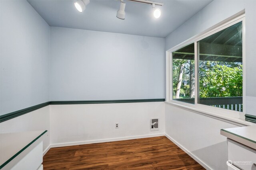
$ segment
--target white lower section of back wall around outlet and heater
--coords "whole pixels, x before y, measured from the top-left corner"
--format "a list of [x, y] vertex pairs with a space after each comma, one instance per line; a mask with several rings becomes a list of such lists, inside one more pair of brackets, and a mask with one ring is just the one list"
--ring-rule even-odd
[[[55, 146], [163, 135], [165, 128], [164, 102], [50, 105], [50, 112], [51, 144]], [[150, 118], [160, 119], [159, 131], [150, 131]]]

